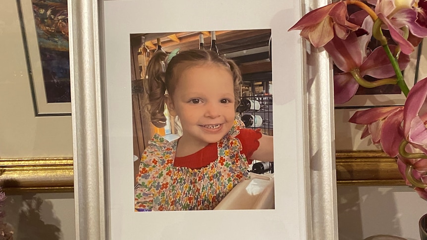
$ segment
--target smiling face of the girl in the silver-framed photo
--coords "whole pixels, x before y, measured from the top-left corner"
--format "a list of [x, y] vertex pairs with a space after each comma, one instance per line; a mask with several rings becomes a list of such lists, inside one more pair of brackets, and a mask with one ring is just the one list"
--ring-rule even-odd
[[186, 68], [171, 97], [166, 102], [170, 114], [181, 121], [182, 145], [201, 149], [221, 140], [233, 126], [233, 78], [224, 66], [208, 63]]

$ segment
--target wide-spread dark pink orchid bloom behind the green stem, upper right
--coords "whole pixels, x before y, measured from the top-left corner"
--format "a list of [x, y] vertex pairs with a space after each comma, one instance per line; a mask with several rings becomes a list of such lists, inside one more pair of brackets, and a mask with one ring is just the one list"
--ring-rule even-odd
[[[363, 11], [360, 12], [363, 13]], [[358, 13], [353, 15], [358, 15]], [[362, 29], [369, 30], [367, 35], [357, 37], [355, 32], [351, 32], [346, 39], [334, 37], [323, 46], [335, 65], [343, 71], [343, 73], [334, 75], [334, 100], [337, 104], [350, 100], [359, 88], [359, 84], [350, 73], [352, 70], [358, 68], [362, 77], [369, 75], [377, 79], [390, 78], [395, 75], [382, 47], [375, 48], [372, 53], [368, 54], [370, 51], [368, 43], [371, 41], [373, 25], [372, 18], [367, 16], [362, 23]], [[390, 46], [392, 51], [395, 48], [395, 46]], [[409, 61], [408, 55], [401, 54], [398, 60], [400, 69], [405, 69]]]

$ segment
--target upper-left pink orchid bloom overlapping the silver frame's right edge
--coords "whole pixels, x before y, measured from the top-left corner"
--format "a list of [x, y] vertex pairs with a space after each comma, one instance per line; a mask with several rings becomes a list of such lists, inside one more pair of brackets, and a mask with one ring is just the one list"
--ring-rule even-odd
[[[291, 30], [301, 30], [300, 35], [310, 41], [315, 48], [323, 47], [334, 35], [345, 39], [359, 26], [347, 21], [348, 12], [345, 1], [330, 3], [304, 15]], [[335, 30], [335, 34], [334, 34]]]

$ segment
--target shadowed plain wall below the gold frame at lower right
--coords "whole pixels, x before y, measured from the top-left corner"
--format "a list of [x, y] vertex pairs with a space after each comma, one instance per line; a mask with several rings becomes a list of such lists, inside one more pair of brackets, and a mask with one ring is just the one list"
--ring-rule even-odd
[[419, 240], [418, 221], [427, 201], [407, 186], [338, 186], [339, 240], [393, 235]]

